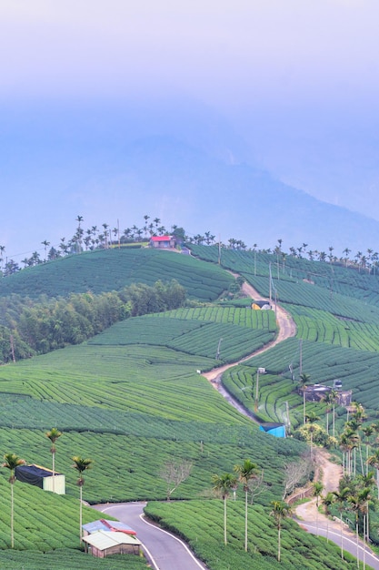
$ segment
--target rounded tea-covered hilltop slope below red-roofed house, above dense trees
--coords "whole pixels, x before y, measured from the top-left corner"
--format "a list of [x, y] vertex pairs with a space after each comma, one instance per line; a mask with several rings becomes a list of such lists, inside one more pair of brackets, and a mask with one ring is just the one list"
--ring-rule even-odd
[[216, 266], [155, 249], [98, 249], [67, 256], [27, 268], [0, 280], [0, 296], [11, 293], [35, 298], [67, 296], [70, 293], [102, 293], [120, 290], [132, 283], [154, 285], [175, 279], [188, 297], [215, 300], [233, 282]]

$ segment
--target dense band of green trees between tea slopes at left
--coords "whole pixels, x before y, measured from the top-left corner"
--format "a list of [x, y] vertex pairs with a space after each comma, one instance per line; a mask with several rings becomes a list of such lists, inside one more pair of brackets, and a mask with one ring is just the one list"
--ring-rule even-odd
[[13, 294], [0, 299], [0, 363], [79, 344], [117, 321], [185, 304], [185, 288], [176, 280], [136, 283], [94, 295], [72, 293], [67, 299], [37, 300]]

